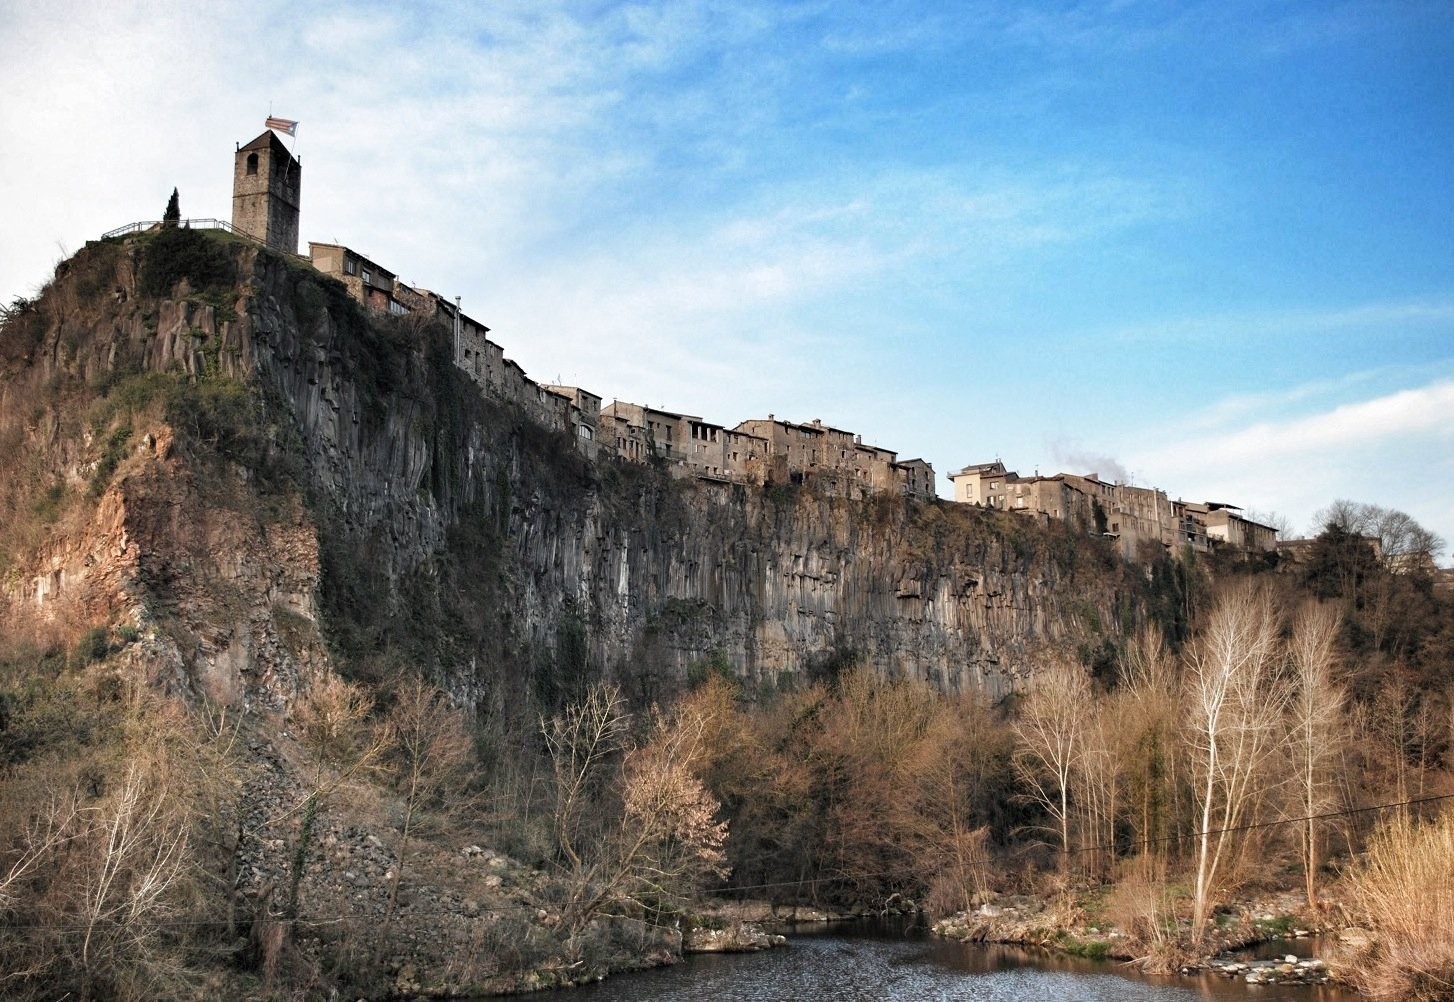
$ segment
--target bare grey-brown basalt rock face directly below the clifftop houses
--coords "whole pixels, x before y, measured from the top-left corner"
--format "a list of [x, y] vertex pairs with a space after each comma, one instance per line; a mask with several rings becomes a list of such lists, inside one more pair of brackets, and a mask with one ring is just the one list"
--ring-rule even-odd
[[145, 239], [93, 244], [6, 324], [12, 621], [135, 625], [153, 672], [227, 700], [343, 656], [505, 707], [601, 673], [650, 700], [704, 660], [999, 695], [1035, 646], [1140, 615], [1140, 576], [1063, 526], [589, 464], [484, 400], [446, 330], [206, 240], [199, 289], [147, 295]]

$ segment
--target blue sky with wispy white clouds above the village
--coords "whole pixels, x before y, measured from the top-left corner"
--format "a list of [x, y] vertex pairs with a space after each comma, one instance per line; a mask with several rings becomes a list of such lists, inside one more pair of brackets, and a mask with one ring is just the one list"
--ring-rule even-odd
[[1454, 547], [1454, 4], [0, 0], [0, 298], [231, 214], [539, 381]]

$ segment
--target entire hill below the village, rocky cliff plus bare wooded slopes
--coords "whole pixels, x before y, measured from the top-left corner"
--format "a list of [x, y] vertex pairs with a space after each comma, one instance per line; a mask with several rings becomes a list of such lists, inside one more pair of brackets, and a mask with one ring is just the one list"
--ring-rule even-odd
[[1134, 567], [587, 461], [448, 330], [161, 230], [4, 313], [0, 582], [7, 998], [569, 983], [736, 897], [1034, 894], [1172, 966], [1288, 889], [1448, 980], [1383, 889], [1448, 887], [1450, 598], [1338, 524]]

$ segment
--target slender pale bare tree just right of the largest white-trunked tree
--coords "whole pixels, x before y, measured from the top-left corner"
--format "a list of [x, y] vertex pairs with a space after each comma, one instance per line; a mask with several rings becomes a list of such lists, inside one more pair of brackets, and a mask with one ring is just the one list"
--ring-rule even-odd
[[1293, 681], [1288, 730], [1297, 769], [1297, 804], [1306, 819], [1298, 832], [1309, 907], [1317, 906], [1317, 868], [1322, 862], [1322, 823], [1317, 814], [1336, 803], [1335, 772], [1346, 733], [1346, 694], [1333, 678], [1336, 640], [1338, 614], [1330, 606], [1309, 604], [1298, 614], [1287, 644]]

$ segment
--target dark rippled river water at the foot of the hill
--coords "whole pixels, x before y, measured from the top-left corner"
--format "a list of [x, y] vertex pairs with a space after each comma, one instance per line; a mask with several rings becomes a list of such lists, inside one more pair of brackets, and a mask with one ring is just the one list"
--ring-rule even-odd
[[1013, 947], [957, 944], [884, 929], [794, 935], [792, 945], [759, 954], [698, 955], [660, 970], [618, 974], [570, 992], [531, 995], [532, 1002], [1355, 1002], [1329, 987], [1252, 986], [1216, 974], [1144, 977], [1096, 963]]

